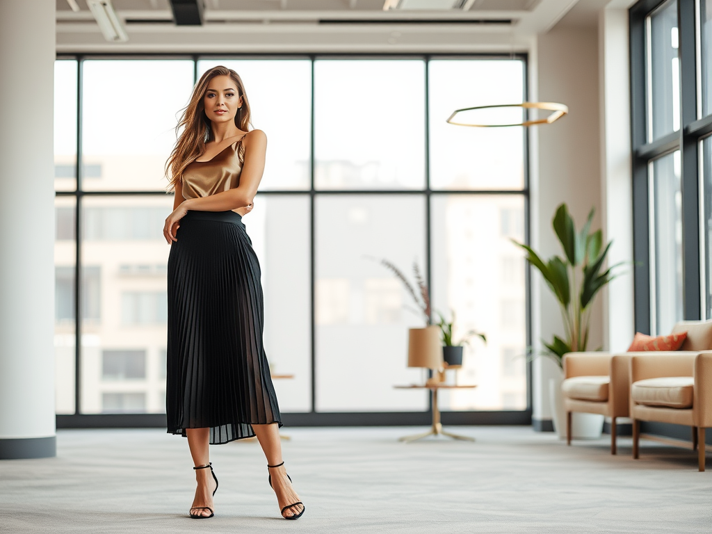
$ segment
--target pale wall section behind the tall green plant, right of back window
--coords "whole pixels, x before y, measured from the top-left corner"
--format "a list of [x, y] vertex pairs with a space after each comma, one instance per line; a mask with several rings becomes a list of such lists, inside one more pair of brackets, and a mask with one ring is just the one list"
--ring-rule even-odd
[[[536, 98], [560, 102], [569, 115], [553, 125], [533, 131], [538, 158], [532, 162], [532, 242], [543, 256], [562, 254], [551, 228], [559, 204], [565, 202], [577, 226], [592, 207], [596, 209], [594, 228], [601, 224], [600, 120], [598, 35], [595, 28], [557, 26], [538, 37], [535, 49]], [[533, 147], [533, 151], [535, 148]], [[540, 276], [533, 278], [533, 343], [563, 335], [561, 315], [555, 298]], [[603, 343], [603, 315], [600, 298], [592, 309], [589, 348]], [[548, 358], [533, 365], [533, 418], [550, 419], [548, 378], [557, 375]]]

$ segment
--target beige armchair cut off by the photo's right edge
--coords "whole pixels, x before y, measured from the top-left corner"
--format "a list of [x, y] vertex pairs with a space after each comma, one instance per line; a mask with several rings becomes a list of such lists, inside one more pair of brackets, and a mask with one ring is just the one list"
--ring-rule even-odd
[[641, 421], [684, 424], [693, 427], [693, 449], [704, 471], [705, 429], [712, 426], [712, 351], [636, 353], [630, 379], [633, 458], [639, 456]]

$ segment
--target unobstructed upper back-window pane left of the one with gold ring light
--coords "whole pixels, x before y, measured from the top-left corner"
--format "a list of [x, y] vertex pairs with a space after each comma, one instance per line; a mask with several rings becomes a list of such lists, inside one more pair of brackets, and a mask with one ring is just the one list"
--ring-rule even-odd
[[425, 63], [314, 63], [316, 189], [424, 189]]

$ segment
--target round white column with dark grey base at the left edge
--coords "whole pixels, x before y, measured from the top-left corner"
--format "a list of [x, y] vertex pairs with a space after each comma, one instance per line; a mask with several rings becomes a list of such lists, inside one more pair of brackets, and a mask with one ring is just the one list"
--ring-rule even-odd
[[0, 1], [0, 459], [54, 456], [55, 1]]

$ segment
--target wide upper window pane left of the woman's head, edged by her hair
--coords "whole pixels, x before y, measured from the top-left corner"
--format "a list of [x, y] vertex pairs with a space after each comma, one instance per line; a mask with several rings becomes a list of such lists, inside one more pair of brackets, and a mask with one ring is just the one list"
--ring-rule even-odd
[[82, 64], [82, 188], [160, 191], [193, 62], [86, 60]]

